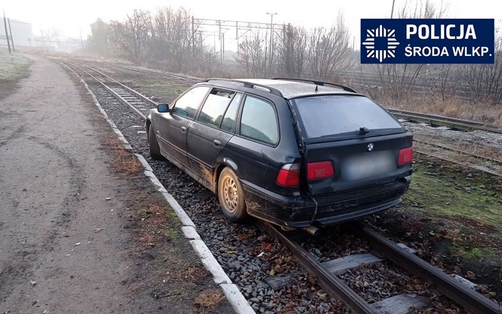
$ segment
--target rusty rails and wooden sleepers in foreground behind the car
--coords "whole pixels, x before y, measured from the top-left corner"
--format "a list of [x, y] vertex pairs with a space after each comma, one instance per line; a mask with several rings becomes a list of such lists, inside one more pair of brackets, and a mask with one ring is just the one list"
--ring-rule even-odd
[[375, 232], [361, 222], [352, 223], [350, 228], [357, 235], [366, 238], [373, 253], [351, 254], [334, 260], [319, 262], [314, 255], [307, 252], [295, 235], [281, 231], [275, 226], [264, 223], [266, 229], [279, 239], [317, 280], [319, 286], [332, 297], [338, 298], [355, 313], [408, 313], [410, 309], [427, 307], [431, 300], [423, 295], [403, 293], [387, 299], [368, 304], [359, 294], [352, 290], [339, 275], [350, 269], [355, 269], [371, 263], [390, 260], [411, 274], [429, 280], [434, 288], [445, 296], [473, 313], [501, 313], [496, 303], [469, 287], [469, 282], [460, 276], [449, 276], [438, 268], [417, 257], [414, 251], [406, 246], [400, 246], [381, 234]]

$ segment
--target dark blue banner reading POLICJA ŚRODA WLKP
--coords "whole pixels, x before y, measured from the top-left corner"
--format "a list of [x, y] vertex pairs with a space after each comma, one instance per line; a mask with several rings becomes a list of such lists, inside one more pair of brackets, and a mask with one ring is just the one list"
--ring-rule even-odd
[[361, 19], [361, 63], [493, 63], [493, 19]]

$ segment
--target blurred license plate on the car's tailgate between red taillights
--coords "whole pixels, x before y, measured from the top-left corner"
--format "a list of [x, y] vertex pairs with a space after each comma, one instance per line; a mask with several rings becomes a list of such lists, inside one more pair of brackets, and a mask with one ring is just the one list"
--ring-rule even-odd
[[396, 171], [396, 158], [392, 151], [368, 152], [350, 156], [342, 161], [344, 180], [357, 180]]

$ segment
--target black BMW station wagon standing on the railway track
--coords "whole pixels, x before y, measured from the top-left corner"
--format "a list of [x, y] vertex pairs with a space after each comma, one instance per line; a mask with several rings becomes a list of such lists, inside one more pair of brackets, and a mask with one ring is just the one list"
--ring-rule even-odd
[[151, 157], [215, 192], [234, 222], [314, 233], [395, 206], [410, 185], [413, 135], [339, 84], [208, 79], [150, 110], [146, 131]]

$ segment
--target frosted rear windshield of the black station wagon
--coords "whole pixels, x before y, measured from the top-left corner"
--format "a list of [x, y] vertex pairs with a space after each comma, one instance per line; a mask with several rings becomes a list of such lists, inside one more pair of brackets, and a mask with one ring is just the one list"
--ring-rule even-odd
[[373, 100], [364, 96], [326, 95], [291, 100], [308, 138], [319, 138], [359, 128], [402, 129], [401, 124]]

